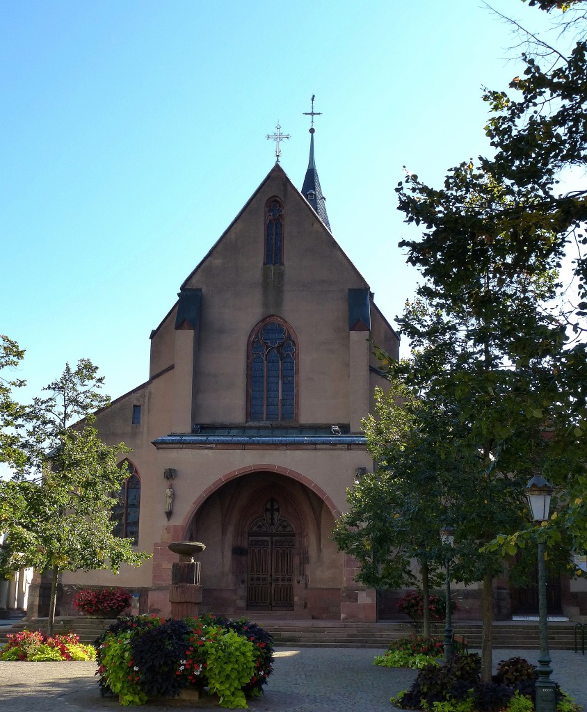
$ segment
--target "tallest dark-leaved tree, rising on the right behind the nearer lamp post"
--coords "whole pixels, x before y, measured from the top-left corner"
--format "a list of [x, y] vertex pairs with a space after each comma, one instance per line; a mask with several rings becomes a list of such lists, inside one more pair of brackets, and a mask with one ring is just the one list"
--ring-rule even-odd
[[[486, 93], [492, 159], [459, 164], [442, 189], [415, 175], [397, 189], [406, 221], [423, 229], [400, 245], [425, 282], [400, 320], [420, 357], [409, 369], [391, 370], [423, 397], [454, 407], [462, 427], [444, 447], [467, 464], [462, 535], [482, 548], [499, 537], [505, 553], [516, 551], [524, 532], [531, 535], [520, 507], [535, 471], [565, 503], [549, 523], [551, 542], [578, 550], [587, 543], [587, 358], [585, 344], [571, 339], [587, 311], [581, 252], [579, 302], [559, 307], [568, 241], [587, 244], [580, 233], [586, 192], [554, 192], [561, 170], [585, 161], [586, 45], [557, 58], [543, 72], [524, 56], [524, 79], [511, 83], [520, 100]], [[493, 566], [483, 572], [484, 679], [491, 674]]]

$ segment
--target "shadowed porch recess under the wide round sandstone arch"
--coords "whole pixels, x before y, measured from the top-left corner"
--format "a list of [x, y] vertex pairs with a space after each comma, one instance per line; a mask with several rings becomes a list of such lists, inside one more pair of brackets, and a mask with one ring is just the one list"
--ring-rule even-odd
[[[330, 539], [334, 518], [323, 497], [273, 469], [228, 478], [202, 499], [185, 536], [207, 545], [199, 557], [203, 609], [232, 616], [248, 610], [340, 618], [343, 556]], [[274, 521], [268, 505], [279, 509]], [[251, 546], [264, 553], [254, 555]], [[259, 571], [263, 557], [266, 570]], [[263, 575], [264, 582], [255, 580]], [[251, 589], [255, 585], [264, 585], [264, 596]]]

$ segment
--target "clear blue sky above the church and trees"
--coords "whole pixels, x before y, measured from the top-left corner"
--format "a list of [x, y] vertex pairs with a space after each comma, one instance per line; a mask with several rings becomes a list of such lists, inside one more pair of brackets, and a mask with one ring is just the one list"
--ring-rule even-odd
[[[494, 6], [536, 28], [516, 0]], [[0, 5], [0, 332], [26, 397], [89, 357], [118, 397], [149, 335], [274, 164], [316, 162], [333, 234], [390, 321], [417, 274], [394, 188], [487, 152], [510, 28], [477, 0], [26, 0]]]

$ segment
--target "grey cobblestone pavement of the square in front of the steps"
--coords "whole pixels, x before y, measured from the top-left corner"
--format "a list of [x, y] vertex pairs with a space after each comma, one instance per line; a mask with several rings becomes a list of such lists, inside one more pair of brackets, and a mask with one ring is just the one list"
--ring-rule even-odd
[[[266, 695], [249, 701], [251, 712], [392, 712], [389, 698], [410, 686], [416, 671], [373, 665], [381, 651], [351, 648], [278, 648]], [[496, 650], [494, 663], [535, 651]], [[553, 651], [553, 679], [587, 712], [587, 655]], [[0, 662], [1, 712], [109, 712], [113, 698], [100, 698], [95, 664]], [[199, 709], [219, 708], [206, 702]], [[148, 703], [145, 712], [193, 707]]]

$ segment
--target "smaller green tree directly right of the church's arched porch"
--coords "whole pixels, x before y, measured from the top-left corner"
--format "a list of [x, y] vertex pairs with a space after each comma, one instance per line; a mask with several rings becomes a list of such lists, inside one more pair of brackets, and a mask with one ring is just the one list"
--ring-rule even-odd
[[430, 444], [415, 427], [425, 405], [400, 382], [388, 393], [375, 390], [375, 414], [363, 421], [368, 448], [379, 463], [347, 489], [348, 511], [336, 521], [338, 548], [360, 562], [358, 580], [375, 588], [419, 582], [424, 602], [424, 634], [430, 635], [430, 586], [437, 584], [440, 550], [441, 483]]

